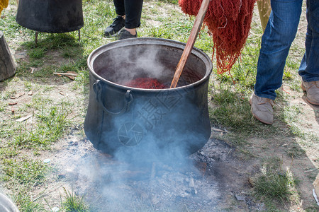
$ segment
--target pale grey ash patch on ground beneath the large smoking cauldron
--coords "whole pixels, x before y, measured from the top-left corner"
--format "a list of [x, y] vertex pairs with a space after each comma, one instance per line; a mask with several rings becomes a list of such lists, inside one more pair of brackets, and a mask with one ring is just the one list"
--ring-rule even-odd
[[[216, 142], [210, 139], [208, 148], [167, 160], [86, 154], [72, 173], [74, 192], [84, 196], [92, 211], [211, 211], [222, 199], [214, 163], [230, 152]], [[218, 151], [211, 153], [214, 147]]]

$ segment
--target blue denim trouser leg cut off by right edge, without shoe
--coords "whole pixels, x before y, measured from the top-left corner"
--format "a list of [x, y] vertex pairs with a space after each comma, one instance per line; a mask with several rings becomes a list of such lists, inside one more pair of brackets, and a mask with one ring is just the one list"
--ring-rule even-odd
[[306, 52], [299, 67], [303, 81], [319, 81], [319, 1], [307, 1]]

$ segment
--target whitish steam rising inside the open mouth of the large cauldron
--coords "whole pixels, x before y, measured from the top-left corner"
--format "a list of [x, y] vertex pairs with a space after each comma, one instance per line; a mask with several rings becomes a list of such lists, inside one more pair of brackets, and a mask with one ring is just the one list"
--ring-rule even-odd
[[174, 65], [164, 64], [157, 49], [126, 46], [106, 54], [103, 61], [98, 62], [100, 70], [96, 72], [113, 83], [123, 85], [139, 77], [157, 78], [165, 83], [171, 81], [174, 74]]

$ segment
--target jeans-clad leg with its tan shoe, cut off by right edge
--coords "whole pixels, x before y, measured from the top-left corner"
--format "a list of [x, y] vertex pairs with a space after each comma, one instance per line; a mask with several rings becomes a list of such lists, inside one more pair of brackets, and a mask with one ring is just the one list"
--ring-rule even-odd
[[306, 91], [306, 100], [319, 105], [319, 1], [307, 1], [306, 52], [299, 67], [301, 88]]

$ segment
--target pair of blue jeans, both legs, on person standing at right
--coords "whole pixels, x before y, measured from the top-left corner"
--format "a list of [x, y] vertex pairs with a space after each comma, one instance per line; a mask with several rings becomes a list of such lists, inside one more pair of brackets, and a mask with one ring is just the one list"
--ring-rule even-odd
[[[274, 100], [282, 85], [284, 66], [296, 37], [303, 0], [271, 0], [272, 13], [262, 35], [254, 93]], [[303, 81], [319, 80], [319, 1], [307, 0], [306, 52], [299, 75]]]

